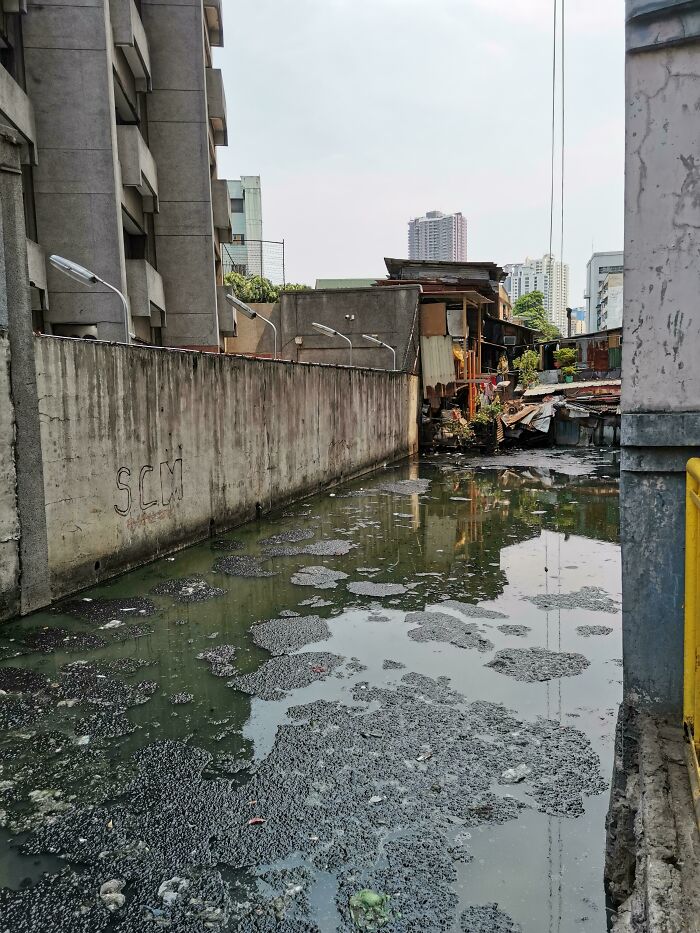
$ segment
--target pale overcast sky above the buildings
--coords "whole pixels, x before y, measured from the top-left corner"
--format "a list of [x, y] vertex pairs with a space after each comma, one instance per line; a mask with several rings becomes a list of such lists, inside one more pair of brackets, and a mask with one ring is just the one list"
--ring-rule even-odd
[[[264, 236], [286, 240], [288, 280], [383, 276], [429, 210], [464, 213], [470, 260], [547, 251], [552, 2], [224, 4], [220, 174], [262, 176]], [[624, 4], [568, 0], [567, 21], [576, 306], [591, 247], [623, 245]]]

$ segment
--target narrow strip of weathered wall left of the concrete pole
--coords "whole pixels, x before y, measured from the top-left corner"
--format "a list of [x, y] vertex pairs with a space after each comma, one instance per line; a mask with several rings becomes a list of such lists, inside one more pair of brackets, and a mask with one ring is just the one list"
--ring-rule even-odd
[[10, 342], [0, 331], [0, 619], [20, 611], [19, 513]]

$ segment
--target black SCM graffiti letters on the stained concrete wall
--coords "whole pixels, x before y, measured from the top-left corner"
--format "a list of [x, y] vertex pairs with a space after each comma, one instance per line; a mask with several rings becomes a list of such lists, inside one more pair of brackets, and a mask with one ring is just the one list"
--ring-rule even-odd
[[163, 460], [155, 466], [145, 463], [138, 471], [119, 467], [116, 482], [117, 515], [129, 518], [130, 524], [150, 524], [167, 515], [184, 497], [182, 457], [172, 462]]

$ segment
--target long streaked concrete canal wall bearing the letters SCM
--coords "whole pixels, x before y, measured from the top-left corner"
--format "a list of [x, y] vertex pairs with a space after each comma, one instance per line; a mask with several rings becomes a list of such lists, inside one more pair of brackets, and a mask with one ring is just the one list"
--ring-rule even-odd
[[36, 338], [55, 597], [417, 449], [403, 373]]

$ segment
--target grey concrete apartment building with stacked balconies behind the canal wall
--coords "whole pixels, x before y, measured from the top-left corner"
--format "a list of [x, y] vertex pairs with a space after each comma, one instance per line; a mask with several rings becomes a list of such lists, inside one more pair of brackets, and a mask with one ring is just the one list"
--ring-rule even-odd
[[24, 141], [35, 330], [218, 352], [231, 238], [222, 0], [0, 0], [0, 122]]

